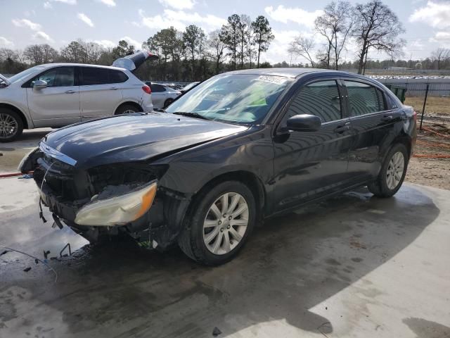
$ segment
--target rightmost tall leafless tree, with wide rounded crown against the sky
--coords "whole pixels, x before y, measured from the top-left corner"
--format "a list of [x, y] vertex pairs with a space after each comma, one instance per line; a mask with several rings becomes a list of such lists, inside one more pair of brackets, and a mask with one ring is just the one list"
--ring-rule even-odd
[[359, 44], [358, 74], [366, 69], [370, 49], [385, 51], [392, 58], [401, 54], [404, 39], [398, 36], [404, 32], [399, 18], [380, 0], [357, 4], [354, 10], [355, 25], [352, 35]]

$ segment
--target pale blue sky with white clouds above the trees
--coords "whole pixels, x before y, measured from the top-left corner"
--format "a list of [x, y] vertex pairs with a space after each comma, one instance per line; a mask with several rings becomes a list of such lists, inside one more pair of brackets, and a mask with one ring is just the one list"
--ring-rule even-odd
[[[297, 35], [314, 35], [314, 19], [330, 0], [0, 0], [0, 48], [24, 49], [48, 43], [56, 49], [82, 38], [104, 46], [120, 39], [140, 48], [158, 30], [174, 26], [184, 30], [195, 24], [205, 32], [217, 30], [233, 14], [255, 19], [264, 15], [275, 35], [262, 61], [290, 62], [288, 44]], [[366, 1], [350, 1], [352, 4]], [[450, 48], [450, 0], [385, 0], [406, 32], [404, 59], [430, 56], [439, 47]], [[344, 58], [355, 58], [350, 43]], [[369, 58], [383, 59], [372, 52]], [[305, 62], [298, 57], [293, 63]]]

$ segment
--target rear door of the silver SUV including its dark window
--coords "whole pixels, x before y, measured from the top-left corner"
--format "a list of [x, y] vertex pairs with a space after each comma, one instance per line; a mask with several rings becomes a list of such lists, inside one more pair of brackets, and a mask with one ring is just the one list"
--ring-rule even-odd
[[122, 101], [121, 83], [128, 80], [120, 70], [80, 67], [79, 99], [82, 120], [114, 115]]

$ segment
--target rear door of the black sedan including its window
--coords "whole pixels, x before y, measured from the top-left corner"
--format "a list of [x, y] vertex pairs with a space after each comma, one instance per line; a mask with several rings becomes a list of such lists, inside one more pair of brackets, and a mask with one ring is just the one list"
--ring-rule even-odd
[[399, 109], [390, 109], [382, 89], [371, 82], [345, 80], [346, 104], [349, 111], [354, 144], [349, 151], [349, 173], [356, 182], [378, 175], [383, 163], [383, 144], [394, 135], [401, 121]]

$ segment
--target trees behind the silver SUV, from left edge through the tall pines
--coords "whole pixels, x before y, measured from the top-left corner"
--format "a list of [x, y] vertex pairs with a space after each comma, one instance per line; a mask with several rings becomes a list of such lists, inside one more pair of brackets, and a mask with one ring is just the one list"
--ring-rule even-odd
[[149, 37], [141, 46], [121, 40], [108, 48], [82, 39], [59, 51], [49, 44], [33, 44], [24, 50], [0, 49], [0, 73], [14, 74], [32, 65], [53, 62], [111, 65], [116, 58], [137, 49], [158, 54], [158, 61], [142, 65], [136, 75], [143, 80], [205, 80], [226, 70], [269, 67], [261, 55], [274, 39], [269, 20], [259, 15], [251, 20], [245, 14], [230, 15], [220, 30], [205, 32], [197, 25], [184, 31], [168, 27]]

